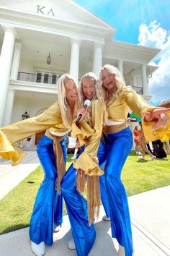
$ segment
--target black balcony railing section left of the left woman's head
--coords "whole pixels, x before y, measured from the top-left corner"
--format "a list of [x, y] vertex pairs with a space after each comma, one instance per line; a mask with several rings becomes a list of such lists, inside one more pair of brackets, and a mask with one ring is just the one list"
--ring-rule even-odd
[[45, 84], [53, 84], [56, 85], [58, 82], [58, 78], [61, 77], [62, 74], [42, 74], [42, 73], [26, 73], [26, 72], [18, 72], [17, 80], [27, 81], [27, 82], [41, 82]]

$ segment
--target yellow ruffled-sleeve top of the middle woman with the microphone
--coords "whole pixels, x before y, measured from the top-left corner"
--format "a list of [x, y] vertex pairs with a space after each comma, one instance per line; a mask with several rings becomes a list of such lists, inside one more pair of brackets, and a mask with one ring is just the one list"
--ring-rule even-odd
[[[104, 106], [99, 100], [94, 100], [91, 101], [88, 111], [91, 117], [88, 124], [82, 120], [79, 130], [72, 129], [72, 136], [77, 136], [81, 145], [86, 144], [84, 152], [73, 161], [73, 166], [76, 169], [81, 168], [89, 176], [99, 176], [103, 174], [102, 170], [99, 169], [97, 151], [104, 126]], [[75, 123], [72, 127], [74, 126], [76, 126]], [[86, 138], [88, 138], [87, 143]]]

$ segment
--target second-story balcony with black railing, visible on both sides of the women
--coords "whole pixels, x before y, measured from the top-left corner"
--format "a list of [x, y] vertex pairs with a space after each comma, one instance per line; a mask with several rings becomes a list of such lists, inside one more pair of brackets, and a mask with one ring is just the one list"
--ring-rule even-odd
[[[56, 85], [58, 82], [59, 77], [61, 77], [62, 74], [48, 74], [42, 72], [37, 73], [27, 73], [27, 72], [18, 72], [17, 80], [19, 81], [26, 81], [26, 82], [38, 82], [41, 84], [50, 84], [50, 85]], [[130, 85], [130, 82], [125, 81], [126, 85]], [[130, 85], [133, 90], [135, 90], [136, 93], [142, 95], [143, 94], [143, 88], [139, 86], [132, 86]]]

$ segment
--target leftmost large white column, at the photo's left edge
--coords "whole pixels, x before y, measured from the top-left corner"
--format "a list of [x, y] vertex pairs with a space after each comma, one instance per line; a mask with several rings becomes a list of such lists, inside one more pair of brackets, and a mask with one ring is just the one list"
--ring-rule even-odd
[[4, 119], [15, 41], [14, 27], [3, 28], [5, 33], [0, 56], [0, 127], [3, 124]]

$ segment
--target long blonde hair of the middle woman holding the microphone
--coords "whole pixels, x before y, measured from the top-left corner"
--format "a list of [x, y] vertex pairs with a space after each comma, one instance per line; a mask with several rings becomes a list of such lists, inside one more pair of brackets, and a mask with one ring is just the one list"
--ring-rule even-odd
[[[99, 102], [101, 102], [102, 105], [104, 106], [104, 123], [105, 123], [105, 121], [107, 119], [107, 116], [108, 116], [107, 115], [107, 108], [106, 108], [105, 103], [104, 103], [102, 90], [99, 87], [99, 80], [97, 79], [96, 74], [94, 74], [93, 72], [88, 72], [88, 73], [84, 74], [83, 77], [81, 77], [81, 80], [79, 82], [78, 91], [79, 91], [80, 105], [83, 106], [83, 103], [86, 100], [86, 97], [84, 96], [84, 93], [83, 93], [83, 81], [85, 79], [90, 79], [90, 80], [94, 81], [95, 94], [94, 94], [94, 97], [92, 98], [91, 101], [99, 100]], [[89, 111], [87, 111], [87, 114], [84, 117], [84, 119], [86, 121], [90, 121], [91, 117], [89, 116]]]

